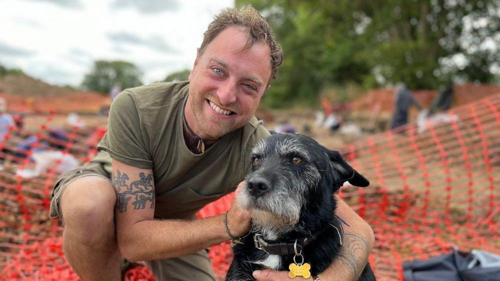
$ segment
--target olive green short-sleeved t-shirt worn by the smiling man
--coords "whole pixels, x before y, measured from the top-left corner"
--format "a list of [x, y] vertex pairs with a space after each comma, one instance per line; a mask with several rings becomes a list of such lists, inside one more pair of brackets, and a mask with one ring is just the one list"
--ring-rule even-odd
[[183, 136], [189, 82], [155, 83], [127, 89], [113, 101], [108, 130], [98, 145], [112, 158], [153, 169], [155, 217], [190, 218], [211, 201], [235, 190], [250, 165], [250, 150], [269, 136], [252, 117], [202, 154]]

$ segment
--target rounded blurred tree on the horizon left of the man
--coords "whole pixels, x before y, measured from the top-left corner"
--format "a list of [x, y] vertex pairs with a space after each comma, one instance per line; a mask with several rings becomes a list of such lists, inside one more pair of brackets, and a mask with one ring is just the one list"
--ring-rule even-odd
[[133, 63], [122, 60], [96, 60], [91, 72], [85, 75], [82, 86], [108, 93], [114, 85], [122, 89], [139, 86], [142, 72]]

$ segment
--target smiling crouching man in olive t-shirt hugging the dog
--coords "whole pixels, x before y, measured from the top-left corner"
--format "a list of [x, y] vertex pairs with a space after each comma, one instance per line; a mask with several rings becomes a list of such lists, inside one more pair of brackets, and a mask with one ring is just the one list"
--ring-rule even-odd
[[[82, 279], [120, 280], [123, 256], [146, 260], [158, 281], [215, 280], [205, 249], [247, 233], [251, 217], [235, 203], [226, 216], [196, 219], [196, 212], [244, 187], [250, 150], [269, 136], [254, 113], [281, 60], [254, 8], [227, 9], [205, 32], [189, 81], [117, 96], [100, 153], [58, 179], [51, 203], [51, 216], [64, 223], [66, 258]], [[351, 225], [347, 242], [318, 280], [355, 279], [373, 246], [371, 228], [341, 200], [338, 210]]]

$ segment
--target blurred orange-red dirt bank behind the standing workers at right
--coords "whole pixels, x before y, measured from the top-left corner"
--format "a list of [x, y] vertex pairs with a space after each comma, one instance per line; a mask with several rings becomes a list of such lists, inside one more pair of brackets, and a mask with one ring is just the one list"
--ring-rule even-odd
[[[453, 92], [452, 107], [460, 106], [499, 92], [499, 85], [456, 84]], [[432, 104], [432, 100], [434, 100], [438, 90], [415, 90], [412, 93], [423, 107], [428, 108]], [[355, 111], [371, 111], [371, 108], [377, 103], [380, 103], [380, 110], [382, 112], [392, 112], [394, 109], [393, 90], [390, 88], [370, 90], [363, 96], [353, 100], [351, 106]]]

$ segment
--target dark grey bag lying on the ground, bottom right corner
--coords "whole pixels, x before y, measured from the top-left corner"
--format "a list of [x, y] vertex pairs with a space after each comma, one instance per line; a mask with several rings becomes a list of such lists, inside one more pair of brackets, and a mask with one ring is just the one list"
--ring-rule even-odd
[[405, 281], [500, 281], [500, 255], [455, 249], [426, 260], [403, 264]]

